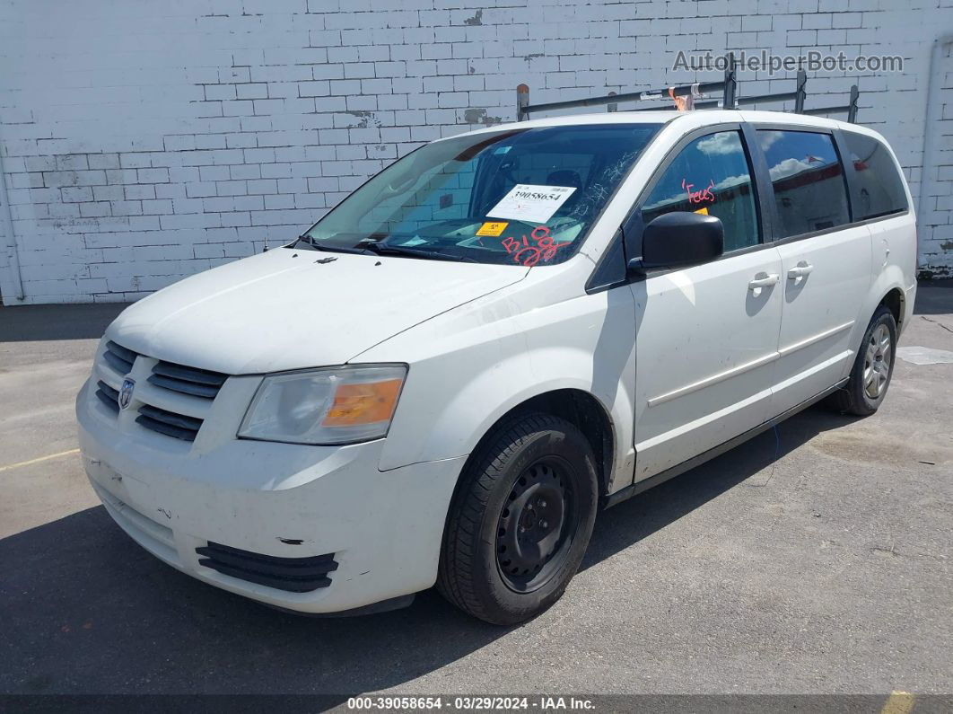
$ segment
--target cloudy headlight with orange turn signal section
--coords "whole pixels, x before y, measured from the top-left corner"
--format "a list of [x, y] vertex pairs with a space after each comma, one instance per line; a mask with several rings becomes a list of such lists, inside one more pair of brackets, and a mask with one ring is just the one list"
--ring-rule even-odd
[[402, 364], [332, 367], [265, 377], [238, 436], [298, 444], [380, 439], [407, 377]]

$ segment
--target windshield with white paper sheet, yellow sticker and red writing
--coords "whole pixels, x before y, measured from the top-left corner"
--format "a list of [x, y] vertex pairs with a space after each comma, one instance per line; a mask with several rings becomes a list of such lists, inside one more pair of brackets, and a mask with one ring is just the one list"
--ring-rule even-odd
[[477, 133], [375, 175], [292, 246], [552, 265], [576, 253], [659, 124]]

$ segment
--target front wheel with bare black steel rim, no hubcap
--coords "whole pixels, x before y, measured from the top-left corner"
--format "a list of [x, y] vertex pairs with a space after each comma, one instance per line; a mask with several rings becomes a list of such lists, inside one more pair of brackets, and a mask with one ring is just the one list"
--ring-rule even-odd
[[480, 620], [529, 620], [559, 599], [589, 544], [592, 447], [565, 419], [528, 414], [497, 428], [460, 479], [437, 588]]

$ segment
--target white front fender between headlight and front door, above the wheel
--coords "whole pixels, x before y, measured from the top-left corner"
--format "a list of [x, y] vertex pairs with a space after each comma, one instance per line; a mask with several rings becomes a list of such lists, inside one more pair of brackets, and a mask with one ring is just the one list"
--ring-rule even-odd
[[[518, 299], [517, 299], [518, 297]], [[487, 296], [378, 345], [361, 361], [411, 367], [381, 470], [470, 454], [520, 403], [559, 389], [598, 400], [614, 425], [611, 488], [634, 459], [635, 307], [627, 287], [527, 309], [532, 291]], [[628, 468], [628, 481], [624, 480]]]

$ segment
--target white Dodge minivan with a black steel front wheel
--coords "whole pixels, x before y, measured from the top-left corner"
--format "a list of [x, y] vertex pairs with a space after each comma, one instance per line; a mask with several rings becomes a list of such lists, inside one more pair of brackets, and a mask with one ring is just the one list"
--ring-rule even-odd
[[600, 507], [821, 398], [872, 414], [916, 290], [882, 137], [745, 111], [440, 139], [112, 322], [76, 412], [116, 522], [304, 613], [435, 584], [526, 620]]

